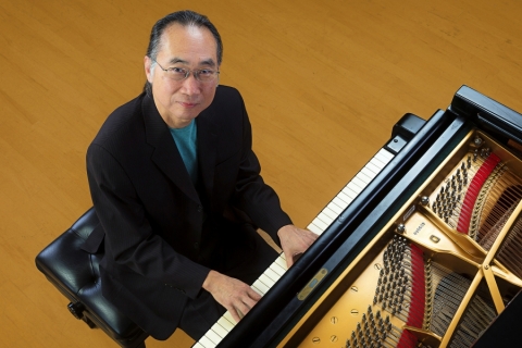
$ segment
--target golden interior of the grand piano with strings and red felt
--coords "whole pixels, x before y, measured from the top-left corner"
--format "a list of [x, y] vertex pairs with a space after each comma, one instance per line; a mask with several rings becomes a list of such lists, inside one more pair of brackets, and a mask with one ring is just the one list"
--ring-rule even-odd
[[[473, 146], [476, 142], [482, 146]], [[490, 285], [483, 278], [478, 287], [472, 288], [472, 281], [476, 266], [485, 260], [521, 201], [522, 179], [482, 139], [475, 138], [471, 149], [462, 152], [460, 160], [450, 161], [457, 164], [426, 196], [425, 210], [406, 209], [413, 211], [403, 217], [409, 233], [390, 231], [393, 237], [384, 249], [352, 283], [351, 288], [371, 285], [371, 265], [383, 265], [365, 313], [359, 321], [351, 320], [349, 313], [343, 316], [345, 347], [435, 348], [442, 341], [447, 347], [470, 347], [498, 315], [488, 291]], [[449, 228], [439, 231], [436, 220]], [[456, 240], [462, 240], [459, 235], [469, 237], [467, 246], [457, 245]], [[518, 220], [495, 254], [499, 272], [522, 277], [520, 250], [522, 221]], [[509, 302], [518, 286], [500, 286], [504, 303]], [[470, 291], [474, 294], [471, 298]], [[360, 299], [349, 293], [325, 316], [353, 308]], [[470, 300], [464, 303], [467, 296]], [[450, 327], [452, 332], [448, 333]], [[318, 343], [330, 330], [318, 324], [308, 337]], [[444, 338], [448, 334], [449, 339]]]

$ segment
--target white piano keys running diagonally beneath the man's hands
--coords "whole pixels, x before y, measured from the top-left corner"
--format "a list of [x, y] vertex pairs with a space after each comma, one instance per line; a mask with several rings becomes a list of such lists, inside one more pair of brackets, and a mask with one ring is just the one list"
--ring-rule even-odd
[[[308, 229], [321, 235], [343, 211], [356, 199], [357, 196], [373, 181], [375, 176], [388, 164], [394, 154], [386, 149], [381, 149], [357, 175], [335, 196], [334, 199], [318, 214], [307, 226]], [[264, 296], [270, 288], [285, 274], [286, 259], [282, 252], [277, 259], [251, 285], [252, 289]], [[236, 325], [231, 313], [226, 311], [220, 320], [201, 337], [192, 348], [214, 348]]]

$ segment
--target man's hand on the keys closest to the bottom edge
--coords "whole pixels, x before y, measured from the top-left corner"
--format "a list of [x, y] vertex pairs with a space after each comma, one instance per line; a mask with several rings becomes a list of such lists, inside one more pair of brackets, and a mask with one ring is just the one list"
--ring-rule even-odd
[[210, 271], [203, 282], [203, 289], [231, 312], [236, 322], [246, 315], [261, 299], [261, 295], [236, 278]]

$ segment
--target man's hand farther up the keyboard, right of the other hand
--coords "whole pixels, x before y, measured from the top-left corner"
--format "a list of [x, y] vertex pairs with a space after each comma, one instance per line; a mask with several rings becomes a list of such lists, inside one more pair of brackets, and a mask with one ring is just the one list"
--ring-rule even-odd
[[304, 252], [318, 239], [318, 235], [313, 232], [294, 225], [281, 227], [277, 231], [277, 236], [279, 237], [288, 268], [294, 264], [294, 256]]

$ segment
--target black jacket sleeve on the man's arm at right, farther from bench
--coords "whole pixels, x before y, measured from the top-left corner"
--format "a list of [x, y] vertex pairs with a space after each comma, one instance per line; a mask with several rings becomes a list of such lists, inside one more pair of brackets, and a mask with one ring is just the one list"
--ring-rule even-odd
[[281, 245], [277, 231], [291, 224], [291, 220], [281, 208], [277, 194], [264, 183], [260, 175], [261, 165], [252, 151], [251, 125], [243, 99], [241, 108], [244, 147], [235, 191], [239, 202], [238, 207], [249, 215], [257, 226]]

